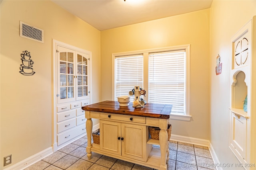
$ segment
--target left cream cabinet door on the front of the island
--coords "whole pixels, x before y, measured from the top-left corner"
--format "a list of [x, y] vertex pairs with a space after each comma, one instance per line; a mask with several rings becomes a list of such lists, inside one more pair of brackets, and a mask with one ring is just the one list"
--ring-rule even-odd
[[121, 123], [100, 120], [100, 150], [121, 155]]

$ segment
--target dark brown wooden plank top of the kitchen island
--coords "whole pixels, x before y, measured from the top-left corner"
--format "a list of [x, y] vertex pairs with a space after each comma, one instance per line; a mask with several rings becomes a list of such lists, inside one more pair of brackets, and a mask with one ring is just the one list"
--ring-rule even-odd
[[172, 111], [172, 105], [147, 103], [143, 107], [135, 108], [132, 107], [132, 102], [129, 103], [129, 106], [119, 106], [117, 101], [104, 101], [83, 106], [82, 109], [86, 111], [169, 119]]

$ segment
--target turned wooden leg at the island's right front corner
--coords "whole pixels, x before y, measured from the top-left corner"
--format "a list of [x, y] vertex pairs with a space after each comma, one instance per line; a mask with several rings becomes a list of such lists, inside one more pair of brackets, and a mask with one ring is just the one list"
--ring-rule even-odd
[[160, 143], [160, 151], [161, 151], [161, 164], [160, 164], [160, 170], [167, 170], [167, 147], [168, 147], [168, 133], [167, 133], [167, 127], [168, 127], [168, 120], [166, 119], [160, 119], [159, 120], [159, 143]]

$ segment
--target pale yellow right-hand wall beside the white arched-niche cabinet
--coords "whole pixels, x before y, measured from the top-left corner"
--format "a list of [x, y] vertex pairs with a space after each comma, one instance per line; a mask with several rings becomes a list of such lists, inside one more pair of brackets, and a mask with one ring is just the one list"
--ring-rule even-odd
[[[256, 15], [255, 0], [214, 0], [211, 6], [210, 141], [221, 163], [238, 163], [238, 160], [228, 148], [230, 39], [254, 15]], [[221, 57], [222, 73], [216, 76], [215, 67], [218, 54]]]

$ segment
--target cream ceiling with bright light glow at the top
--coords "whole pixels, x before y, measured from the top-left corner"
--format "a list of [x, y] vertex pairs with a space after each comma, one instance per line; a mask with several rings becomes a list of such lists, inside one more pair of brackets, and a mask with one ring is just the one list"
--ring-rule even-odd
[[212, 0], [52, 0], [103, 31], [211, 7]]

